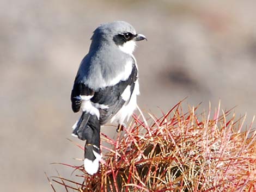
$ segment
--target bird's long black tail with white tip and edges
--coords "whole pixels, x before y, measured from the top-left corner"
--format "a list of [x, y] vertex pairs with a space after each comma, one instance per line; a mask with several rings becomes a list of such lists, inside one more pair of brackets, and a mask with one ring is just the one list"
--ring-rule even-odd
[[99, 169], [100, 156], [100, 121], [96, 115], [83, 112], [73, 134], [86, 140], [84, 146], [84, 169], [93, 175]]

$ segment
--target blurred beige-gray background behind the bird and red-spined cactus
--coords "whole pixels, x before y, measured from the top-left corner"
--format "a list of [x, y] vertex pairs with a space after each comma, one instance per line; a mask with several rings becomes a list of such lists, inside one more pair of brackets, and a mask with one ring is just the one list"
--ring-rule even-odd
[[[44, 175], [72, 178], [52, 162], [80, 165], [70, 91], [100, 23], [124, 20], [138, 43], [140, 108], [157, 116], [221, 99], [252, 120], [256, 107], [255, 1], [0, 1], [1, 191], [52, 191]], [[160, 108], [160, 109], [159, 109]], [[248, 123], [247, 123], [248, 124]], [[114, 131], [102, 128], [109, 137]]]

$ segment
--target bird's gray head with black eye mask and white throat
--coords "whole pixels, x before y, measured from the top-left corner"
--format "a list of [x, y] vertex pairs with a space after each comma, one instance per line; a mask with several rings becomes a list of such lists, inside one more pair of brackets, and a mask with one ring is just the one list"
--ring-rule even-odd
[[101, 24], [92, 36], [92, 41], [101, 44], [114, 44], [121, 51], [132, 54], [136, 41], [147, 40], [142, 34], [137, 34], [135, 28], [125, 21], [114, 21]]

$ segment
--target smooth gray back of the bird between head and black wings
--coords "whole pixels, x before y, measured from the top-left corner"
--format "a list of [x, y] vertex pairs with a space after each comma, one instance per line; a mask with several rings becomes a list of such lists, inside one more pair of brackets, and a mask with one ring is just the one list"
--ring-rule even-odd
[[127, 62], [134, 62], [132, 56], [120, 51], [116, 45], [90, 49], [80, 64], [77, 81], [94, 90], [105, 87], [124, 72]]

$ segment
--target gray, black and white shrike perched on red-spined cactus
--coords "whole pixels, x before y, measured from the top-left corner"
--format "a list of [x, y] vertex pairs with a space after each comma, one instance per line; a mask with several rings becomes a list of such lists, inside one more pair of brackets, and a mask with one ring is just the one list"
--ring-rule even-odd
[[82, 115], [72, 127], [72, 135], [86, 140], [84, 169], [90, 175], [99, 169], [100, 126], [107, 121], [123, 125], [136, 108], [138, 68], [132, 52], [136, 41], [144, 39], [127, 22], [101, 24], [78, 69], [71, 102], [72, 110], [82, 110]]

